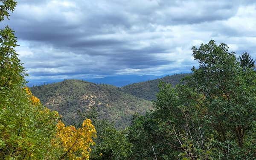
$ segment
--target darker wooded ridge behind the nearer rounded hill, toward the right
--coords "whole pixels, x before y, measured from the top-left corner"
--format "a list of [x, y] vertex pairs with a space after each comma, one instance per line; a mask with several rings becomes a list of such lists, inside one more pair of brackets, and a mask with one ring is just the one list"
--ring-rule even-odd
[[149, 80], [149, 81], [143, 81], [140, 83], [130, 84], [122, 87], [121, 90], [133, 96], [137, 96], [139, 98], [152, 101], [152, 100], [156, 100], [156, 94], [159, 91], [158, 84], [160, 81], [171, 83], [174, 86], [178, 84], [182, 78], [188, 75], [189, 73], [175, 74], [172, 76], [164, 76], [161, 79], [155, 79], [155, 80]]

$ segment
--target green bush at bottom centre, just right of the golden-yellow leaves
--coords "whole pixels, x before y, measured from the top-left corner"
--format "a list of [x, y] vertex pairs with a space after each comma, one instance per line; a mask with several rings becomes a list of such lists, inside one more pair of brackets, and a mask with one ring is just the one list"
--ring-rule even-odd
[[90, 160], [127, 159], [131, 152], [131, 143], [128, 142], [126, 131], [116, 130], [113, 123], [97, 117], [95, 106], [81, 115], [81, 119], [92, 119], [97, 130], [97, 137], [94, 139], [96, 145], [92, 146]]

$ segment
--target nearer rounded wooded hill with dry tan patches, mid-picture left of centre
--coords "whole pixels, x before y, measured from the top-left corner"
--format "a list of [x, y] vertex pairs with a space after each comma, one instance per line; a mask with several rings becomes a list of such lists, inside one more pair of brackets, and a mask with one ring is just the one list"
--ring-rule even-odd
[[32, 93], [49, 109], [58, 111], [66, 124], [79, 123], [80, 113], [95, 106], [99, 119], [108, 119], [123, 128], [134, 113], [144, 114], [152, 103], [122, 92], [121, 88], [81, 80], [65, 80], [55, 84], [31, 87]]

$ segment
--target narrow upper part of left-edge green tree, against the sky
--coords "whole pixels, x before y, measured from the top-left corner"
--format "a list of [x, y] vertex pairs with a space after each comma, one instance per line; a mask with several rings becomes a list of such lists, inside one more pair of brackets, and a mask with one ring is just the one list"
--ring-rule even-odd
[[[15, 0], [1, 0], [0, 21], [4, 17], [9, 19], [9, 11], [13, 12], [17, 2]], [[6, 26], [0, 30], [0, 90], [5, 87], [14, 87], [15, 85], [24, 85], [25, 69], [22, 67], [15, 47], [17, 47], [17, 38], [14, 31]]]

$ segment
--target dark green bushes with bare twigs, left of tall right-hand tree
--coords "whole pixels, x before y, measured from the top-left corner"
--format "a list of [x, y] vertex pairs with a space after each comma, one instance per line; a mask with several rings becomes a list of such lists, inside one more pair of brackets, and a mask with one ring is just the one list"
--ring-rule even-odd
[[189, 113], [194, 111], [184, 105], [195, 105], [196, 102], [187, 99], [185, 94], [189, 92], [189, 96], [195, 96], [194, 93], [186, 87], [176, 90], [170, 84], [160, 83], [159, 87], [156, 110], [135, 118], [129, 128], [129, 140], [134, 145], [132, 159], [154, 159], [152, 146], [157, 159], [209, 157], [212, 140], [205, 140], [200, 119], [191, 122]]

